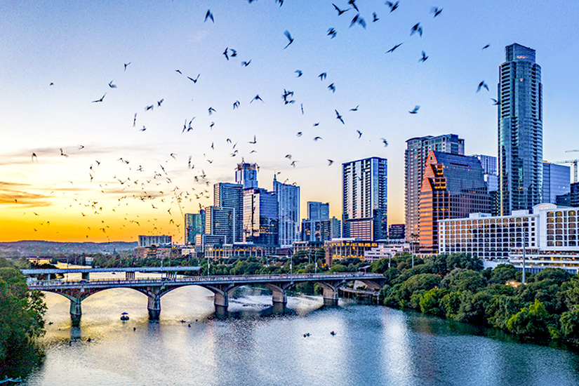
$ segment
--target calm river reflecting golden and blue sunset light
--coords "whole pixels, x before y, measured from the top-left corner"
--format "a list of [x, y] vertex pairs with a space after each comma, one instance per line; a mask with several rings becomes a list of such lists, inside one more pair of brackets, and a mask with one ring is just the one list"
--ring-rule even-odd
[[47, 293], [46, 357], [22, 385], [579, 385], [569, 350], [315, 296], [289, 297], [281, 314], [262, 291], [240, 288], [217, 317], [210, 291], [179, 288], [161, 299], [159, 323], [145, 295], [102, 291], [82, 303], [79, 328], [69, 301]]

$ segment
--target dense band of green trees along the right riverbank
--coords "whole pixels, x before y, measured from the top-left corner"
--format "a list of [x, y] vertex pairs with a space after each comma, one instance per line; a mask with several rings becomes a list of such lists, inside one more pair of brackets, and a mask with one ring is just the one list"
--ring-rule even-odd
[[443, 317], [477, 326], [498, 328], [524, 340], [579, 343], [579, 277], [559, 268], [526, 274], [512, 265], [483, 269], [479, 258], [464, 253], [409, 254], [390, 262], [372, 263], [387, 284], [380, 291], [383, 305]]

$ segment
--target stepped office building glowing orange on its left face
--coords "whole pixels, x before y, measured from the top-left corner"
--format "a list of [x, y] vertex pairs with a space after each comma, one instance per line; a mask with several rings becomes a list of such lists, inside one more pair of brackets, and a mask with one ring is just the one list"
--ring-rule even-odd
[[420, 190], [420, 253], [438, 253], [438, 220], [491, 213], [484, 171], [477, 157], [430, 151]]

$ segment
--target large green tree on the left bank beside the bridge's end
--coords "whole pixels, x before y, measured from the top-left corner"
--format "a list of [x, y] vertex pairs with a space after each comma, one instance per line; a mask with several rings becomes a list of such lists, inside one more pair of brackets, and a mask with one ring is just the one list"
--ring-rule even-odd
[[12, 267], [0, 268], [0, 360], [20, 342], [44, 333], [44, 294], [30, 291], [24, 275]]

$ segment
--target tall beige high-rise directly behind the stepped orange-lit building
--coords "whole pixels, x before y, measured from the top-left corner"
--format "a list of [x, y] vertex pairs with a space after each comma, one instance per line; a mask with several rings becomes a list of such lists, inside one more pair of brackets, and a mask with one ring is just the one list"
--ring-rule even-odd
[[418, 236], [420, 233], [418, 201], [420, 199], [425, 162], [428, 152], [431, 150], [464, 155], [465, 140], [458, 138], [456, 134], [444, 134], [436, 137], [427, 135], [426, 137], [411, 138], [406, 141], [406, 152], [404, 152], [406, 227], [404, 232], [406, 232], [406, 240], [408, 241], [412, 241], [414, 239], [413, 236]]

